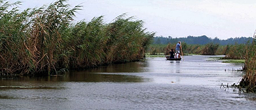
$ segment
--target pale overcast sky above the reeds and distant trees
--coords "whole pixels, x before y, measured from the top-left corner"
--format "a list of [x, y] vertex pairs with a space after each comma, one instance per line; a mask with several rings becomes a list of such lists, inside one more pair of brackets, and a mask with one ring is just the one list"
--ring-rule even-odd
[[[27, 9], [56, 0], [20, 1], [20, 9]], [[104, 16], [104, 22], [110, 23], [126, 13], [127, 17], [143, 20], [147, 31], [163, 37], [252, 37], [256, 29], [255, 0], [69, 0], [68, 3], [71, 8], [83, 6], [75, 22]]]

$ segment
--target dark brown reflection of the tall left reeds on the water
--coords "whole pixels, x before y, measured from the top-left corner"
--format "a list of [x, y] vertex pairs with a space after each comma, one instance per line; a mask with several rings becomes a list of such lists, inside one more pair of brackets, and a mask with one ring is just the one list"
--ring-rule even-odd
[[[142, 63], [142, 64], [141, 64]], [[143, 82], [144, 79], [134, 73], [139, 73], [146, 66], [144, 62], [131, 62], [127, 64], [112, 64], [96, 67], [84, 71], [70, 71], [63, 76], [50, 77], [18, 77], [16, 80], [2, 80], [0, 86], [16, 85], [19, 82], [31, 82], [39, 84], [47, 81], [81, 81], [81, 82]], [[128, 74], [126, 74], [128, 73]], [[28, 85], [26, 85], [28, 86]]]

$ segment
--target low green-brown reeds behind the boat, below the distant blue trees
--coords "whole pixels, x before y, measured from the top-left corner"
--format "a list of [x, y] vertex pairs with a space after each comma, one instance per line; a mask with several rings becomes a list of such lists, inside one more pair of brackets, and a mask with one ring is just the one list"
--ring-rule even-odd
[[[182, 43], [182, 52], [184, 54], [202, 54], [202, 55], [226, 55], [228, 59], [245, 59], [245, 50], [249, 44], [219, 45], [209, 43], [207, 45], [187, 45]], [[176, 43], [168, 45], [150, 45], [147, 52], [150, 54], [169, 54], [171, 49], [175, 50]]]

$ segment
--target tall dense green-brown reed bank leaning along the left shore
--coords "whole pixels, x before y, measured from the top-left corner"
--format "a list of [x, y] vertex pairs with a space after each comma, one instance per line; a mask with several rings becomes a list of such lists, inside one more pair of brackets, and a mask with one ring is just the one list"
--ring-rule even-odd
[[20, 2], [0, 0], [0, 77], [58, 75], [70, 69], [124, 63], [144, 58], [154, 32], [142, 20], [117, 16], [72, 23], [77, 5], [67, 0], [18, 10]]

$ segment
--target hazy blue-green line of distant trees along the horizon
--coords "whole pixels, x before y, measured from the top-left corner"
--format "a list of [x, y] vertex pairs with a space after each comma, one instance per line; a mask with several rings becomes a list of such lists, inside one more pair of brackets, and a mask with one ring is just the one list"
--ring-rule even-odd
[[178, 43], [181, 41], [182, 43], [186, 43], [188, 45], [206, 45], [209, 43], [219, 44], [219, 45], [235, 45], [235, 44], [245, 44], [248, 41], [253, 41], [252, 37], [236, 37], [229, 38], [226, 40], [221, 40], [217, 37], [211, 39], [205, 35], [194, 37], [180, 37], [180, 38], [172, 38], [172, 37], [154, 37], [154, 45], [167, 45], [169, 43]]

